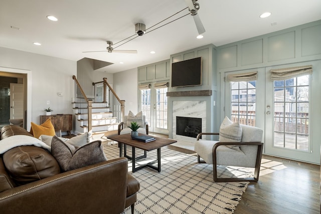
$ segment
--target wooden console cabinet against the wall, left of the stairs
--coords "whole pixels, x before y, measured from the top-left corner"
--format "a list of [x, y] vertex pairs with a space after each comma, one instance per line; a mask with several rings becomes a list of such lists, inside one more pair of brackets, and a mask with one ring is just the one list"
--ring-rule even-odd
[[51, 119], [55, 130], [67, 131], [70, 134], [72, 130], [72, 114], [54, 114], [54, 115], [40, 115], [40, 124], [43, 124], [47, 119]]

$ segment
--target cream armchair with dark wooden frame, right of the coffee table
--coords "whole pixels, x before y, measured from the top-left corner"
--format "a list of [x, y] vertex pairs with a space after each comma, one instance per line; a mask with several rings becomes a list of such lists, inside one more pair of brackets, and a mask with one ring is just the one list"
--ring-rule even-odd
[[[242, 128], [241, 142], [219, 142], [200, 139], [202, 135], [219, 135], [219, 133], [199, 133], [197, 136], [195, 151], [198, 154], [198, 162], [213, 164], [215, 182], [258, 181], [259, 179], [263, 130], [248, 125], [240, 124], [240, 126]], [[239, 149], [233, 149], [228, 146], [238, 146]], [[217, 165], [255, 168], [254, 176], [249, 178], [219, 178], [217, 177]]]

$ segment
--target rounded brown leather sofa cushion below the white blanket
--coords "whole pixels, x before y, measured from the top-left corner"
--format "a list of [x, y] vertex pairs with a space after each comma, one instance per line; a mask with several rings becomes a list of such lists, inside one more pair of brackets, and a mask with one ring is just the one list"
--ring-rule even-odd
[[37, 146], [18, 146], [3, 155], [9, 174], [17, 185], [23, 185], [60, 173], [57, 160]]

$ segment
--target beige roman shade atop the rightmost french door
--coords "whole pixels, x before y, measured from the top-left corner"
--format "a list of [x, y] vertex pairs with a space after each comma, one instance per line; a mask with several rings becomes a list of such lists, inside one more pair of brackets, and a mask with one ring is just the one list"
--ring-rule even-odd
[[312, 74], [312, 65], [292, 68], [271, 69], [271, 80], [287, 80], [293, 77]]

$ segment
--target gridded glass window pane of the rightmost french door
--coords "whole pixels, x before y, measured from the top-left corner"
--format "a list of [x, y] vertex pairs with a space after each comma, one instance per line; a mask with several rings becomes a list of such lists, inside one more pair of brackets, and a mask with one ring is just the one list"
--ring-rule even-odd
[[309, 75], [273, 81], [274, 146], [308, 151]]

